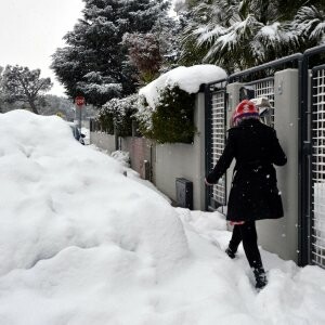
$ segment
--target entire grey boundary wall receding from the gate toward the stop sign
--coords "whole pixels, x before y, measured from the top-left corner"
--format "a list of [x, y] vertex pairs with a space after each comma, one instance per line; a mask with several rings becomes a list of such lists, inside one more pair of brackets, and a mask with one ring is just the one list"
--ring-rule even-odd
[[[147, 178], [147, 165], [152, 167], [151, 180], [159, 191], [176, 202], [176, 179], [193, 182], [193, 208], [205, 210], [205, 95], [198, 93], [195, 103], [194, 122], [197, 133], [193, 144], [156, 145], [144, 138], [120, 138], [119, 147], [130, 153], [131, 168]], [[103, 132], [91, 132], [91, 143], [115, 151], [115, 136]], [[145, 162], [147, 161], [147, 162]]]

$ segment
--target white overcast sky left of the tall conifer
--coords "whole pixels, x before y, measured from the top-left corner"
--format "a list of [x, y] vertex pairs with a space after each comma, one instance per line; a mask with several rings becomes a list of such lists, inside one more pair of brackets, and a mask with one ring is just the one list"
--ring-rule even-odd
[[64, 89], [50, 69], [51, 55], [64, 46], [63, 36], [81, 17], [81, 0], [0, 0], [0, 66], [18, 64], [40, 68], [51, 77], [50, 93]]

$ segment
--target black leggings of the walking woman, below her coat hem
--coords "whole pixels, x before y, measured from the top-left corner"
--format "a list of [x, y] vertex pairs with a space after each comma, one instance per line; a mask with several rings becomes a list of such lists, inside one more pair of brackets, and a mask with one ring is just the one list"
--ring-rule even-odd
[[263, 264], [257, 245], [255, 221], [246, 221], [244, 224], [234, 225], [233, 236], [229, 244], [230, 249], [236, 252], [242, 240], [250, 268], [262, 269]]

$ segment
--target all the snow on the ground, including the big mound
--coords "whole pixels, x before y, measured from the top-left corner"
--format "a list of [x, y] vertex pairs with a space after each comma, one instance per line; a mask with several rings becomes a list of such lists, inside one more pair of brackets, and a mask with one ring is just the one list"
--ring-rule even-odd
[[262, 251], [257, 292], [218, 212], [172, 208], [58, 117], [0, 126], [1, 325], [325, 324], [324, 270]]

